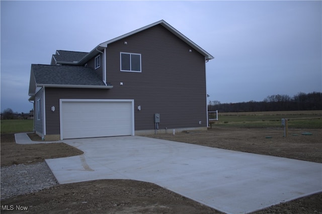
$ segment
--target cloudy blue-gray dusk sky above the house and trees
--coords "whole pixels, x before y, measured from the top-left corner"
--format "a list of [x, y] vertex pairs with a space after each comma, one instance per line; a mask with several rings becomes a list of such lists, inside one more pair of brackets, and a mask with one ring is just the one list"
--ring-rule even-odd
[[321, 1], [1, 1], [1, 111], [29, 112], [31, 64], [165, 20], [215, 58], [208, 100], [322, 91]]

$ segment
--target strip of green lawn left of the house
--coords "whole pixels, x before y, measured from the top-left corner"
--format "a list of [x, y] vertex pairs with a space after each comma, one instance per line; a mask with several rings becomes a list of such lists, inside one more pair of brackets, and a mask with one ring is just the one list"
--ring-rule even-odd
[[33, 120], [1, 120], [1, 133], [32, 132]]

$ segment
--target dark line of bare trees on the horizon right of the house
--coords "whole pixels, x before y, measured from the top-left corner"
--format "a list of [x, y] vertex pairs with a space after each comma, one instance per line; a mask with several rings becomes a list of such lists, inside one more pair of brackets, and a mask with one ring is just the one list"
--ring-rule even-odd
[[322, 110], [322, 93], [299, 92], [293, 97], [289, 95], [270, 95], [263, 101], [248, 101], [237, 103], [220, 103], [209, 101], [208, 111], [219, 112], [270, 112], [270, 111], [311, 111]]

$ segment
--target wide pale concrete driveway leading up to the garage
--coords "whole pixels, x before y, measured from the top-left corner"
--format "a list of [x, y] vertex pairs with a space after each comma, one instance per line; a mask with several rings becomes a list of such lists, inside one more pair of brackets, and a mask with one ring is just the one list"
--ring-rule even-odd
[[139, 136], [63, 140], [84, 155], [48, 159], [60, 184], [155, 183], [226, 213], [247, 213], [322, 191], [322, 164]]

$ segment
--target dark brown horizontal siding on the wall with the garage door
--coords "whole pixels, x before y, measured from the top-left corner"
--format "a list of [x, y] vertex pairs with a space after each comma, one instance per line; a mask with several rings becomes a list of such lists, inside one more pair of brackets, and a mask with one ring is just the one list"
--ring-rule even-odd
[[[120, 52], [141, 54], [141, 72], [120, 71]], [[166, 28], [157, 25], [109, 44], [106, 55], [113, 88], [46, 88], [47, 135], [59, 134], [60, 98], [134, 99], [136, 131], [153, 130], [154, 113], [160, 114], [159, 129], [207, 126], [205, 57]], [[88, 66], [94, 68], [94, 59]]]

